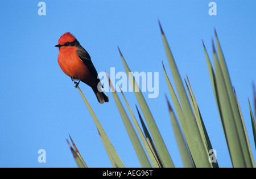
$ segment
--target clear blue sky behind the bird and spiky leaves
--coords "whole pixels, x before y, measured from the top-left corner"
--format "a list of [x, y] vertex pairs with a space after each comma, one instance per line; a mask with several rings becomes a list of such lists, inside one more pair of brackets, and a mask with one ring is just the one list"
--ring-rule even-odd
[[[201, 42], [212, 59], [216, 28], [255, 158], [247, 102], [256, 79], [255, 1], [214, 1], [216, 16], [208, 14], [211, 1], [44, 1], [45, 16], [38, 15], [39, 2], [1, 3], [0, 167], [76, 167], [68, 134], [89, 167], [112, 167], [79, 91], [57, 63], [54, 45], [65, 32], [76, 36], [98, 72], [125, 71], [117, 46], [131, 71], [159, 72], [159, 96], [144, 96], [175, 166], [183, 167], [164, 97], [171, 100], [162, 61], [170, 78], [171, 71], [158, 18], [181, 78], [188, 75], [218, 164], [232, 167]], [[125, 166], [140, 167], [112, 94], [99, 104], [90, 87], [80, 88]], [[125, 95], [136, 112], [134, 93]], [[46, 150], [46, 163], [38, 163], [39, 149]]]

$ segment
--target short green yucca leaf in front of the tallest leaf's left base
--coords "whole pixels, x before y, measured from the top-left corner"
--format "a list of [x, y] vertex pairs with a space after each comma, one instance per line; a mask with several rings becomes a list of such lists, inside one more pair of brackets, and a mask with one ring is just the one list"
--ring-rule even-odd
[[171, 116], [172, 128], [174, 129], [174, 134], [175, 134], [177, 146], [179, 147], [180, 156], [183, 161], [183, 165], [185, 168], [193, 168], [194, 167], [193, 161], [191, 159], [190, 152], [188, 151], [187, 144], [183, 138], [183, 134], [181, 132], [179, 123], [177, 122], [174, 111], [172, 110], [172, 107], [171, 107], [167, 97], [166, 97], [166, 100], [167, 100], [167, 104], [168, 104], [169, 113]]

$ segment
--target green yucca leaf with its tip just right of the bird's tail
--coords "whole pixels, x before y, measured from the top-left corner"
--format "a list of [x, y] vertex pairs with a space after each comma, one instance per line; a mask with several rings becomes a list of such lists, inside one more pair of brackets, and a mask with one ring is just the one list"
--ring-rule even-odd
[[112, 95], [115, 100], [115, 104], [117, 105], [117, 108], [118, 108], [121, 118], [123, 120], [123, 124], [125, 125], [126, 131], [129, 135], [131, 143], [133, 144], [133, 148], [137, 154], [139, 162], [141, 163], [141, 166], [143, 168], [151, 168], [150, 161], [148, 161], [147, 155], [142, 147], [142, 144], [139, 141], [139, 138], [133, 128], [133, 125], [131, 124], [129, 117], [127, 116], [125, 108], [123, 108], [123, 105], [122, 105], [121, 101], [119, 100], [119, 97], [117, 96], [117, 93], [115, 92], [114, 87], [113, 87], [112, 83], [110, 82], [110, 79], [109, 79], [109, 76], [107, 73], [106, 73], [106, 76], [109, 81], [110, 89], [112, 89], [111, 91], [112, 91]]

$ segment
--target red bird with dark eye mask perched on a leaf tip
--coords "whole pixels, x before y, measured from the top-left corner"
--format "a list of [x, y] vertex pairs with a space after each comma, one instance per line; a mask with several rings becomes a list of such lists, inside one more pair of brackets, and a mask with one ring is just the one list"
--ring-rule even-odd
[[90, 59], [89, 53], [80, 45], [76, 37], [70, 32], [64, 33], [58, 44], [59, 48], [58, 62], [60, 69], [68, 75], [74, 82], [76, 88], [80, 81], [90, 86], [95, 93], [99, 103], [109, 101], [109, 97], [103, 92], [102, 84], [98, 78], [98, 73]]

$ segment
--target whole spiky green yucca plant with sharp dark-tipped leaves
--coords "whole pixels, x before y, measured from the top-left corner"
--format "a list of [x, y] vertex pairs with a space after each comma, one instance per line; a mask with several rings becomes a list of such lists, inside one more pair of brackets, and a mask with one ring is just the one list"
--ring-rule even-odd
[[[160, 25], [160, 32], [163, 38], [164, 49], [166, 50], [168, 63], [171, 69], [172, 77], [175, 82], [175, 87], [177, 95], [174, 90], [174, 86], [171, 84], [168, 74], [166, 73], [164, 64], [163, 71], [170, 91], [170, 95], [174, 104], [175, 110], [170, 105], [167, 97], [167, 105], [170, 112], [170, 118], [172, 126], [174, 128], [174, 133], [176, 137], [176, 142], [179, 147], [181, 159], [183, 160], [184, 167], [208, 167], [208, 168], [218, 168], [217, 160], [214, 162], [211, 159], [216, 159], [214, 153], [211, 154], [209, 151], [213, 149], [210, 143], [207, 130], [205, 129], [203, 118], [201, 117], [199, 106], [197, 105], [196, 98], [193, 95], [191, 84], [189, 83], [188, 76], [185, 79], [185, 86], [183, 80], [181, 80], [179, 70], [177, 69], [174, 57], [172, 56], [171, 49], [168, 45], [166, 36], [164, 35], [163, 29]], [[236, 91], [232, 86], [232, 82], [229, 77], [228, 67], [226, 66], [224, 54], [222, 53], [220, 42], [216, 37], [216, 48], [213, 44], [213, 61], [214, 68], [210, 62], [207, 49], [203, 43], [205, 57], [207, 60], [208, 70], [210, 80], [212, 82], [213, 93], [216, 99], [216, 104], [218, 107], [218, 112], [220, 114], [220, 120], [222, 123], [222, 128], [224, 130], [226, 143], [228, 144], [230, 159], [232, 160], [233, 167], [251, 167], [255, 168], [255, 162], [253, 154], [251, 152], [251, 147], [249, 139], [246, 132], [245, 123], [243, 122], [243, 117], [240, 109], [240, 105], [237, 100]], [[125, 67], [126, 74], [129, 76], [130, 69], [127, 65], [125, 58], [123, 57], [121, 50], [118, 48]], [[163, 63], [163, 62], [162, 62]], [[106, 74], [108, 77], [108, 74]], [[109, 79], [109, 78], [108, 78]], [[138, 156], [139, 162], [142, 167], [175, 167], [171, 156], [167, 150], [166, 144], [164, 144], [163, 138], [160, 134], [158, 127], [156, 126], [154, 117], [152, 116], [150, 109], [144, 99], [141, 90], [138, 87], [137, 82], [134, 78], [129, 78], [131, 86], [133, 87], [134, 94], [137, 98], [139, 107], [141, 108], [144, 120], [139, 113], [137, 108], [137, 113], [139, 120], [141, 121], [141, 127], [137, 119], [135, 118], [134, 112], [131, 110], [128, 101], [124, 93], [122, 97], [125, 100], [127, 109], [129, 110], [132, 121], [135, 125], [131, 123], [129, 115], [126, 113], [125, 106], [122, 105], [121, 100], [117, 95], [117, 92], [113, 89], [113, 85], [109, 79], [110, 88], [112, 88], [112, 95], [114, 97], [115, 104], [119, 110], [122, 121], [126, 127], [127, 133], [133, 144], [134, 150]], [[85, 96], [81, 92], [80, 88], [78, 90], [84, 100], [89, 113], [91, 114], [97, 129], [100, 134], [102, 143], [104, 144], [105, 150], [109, 156], [109, 159], [113, 167], [125, 167], [122, 160], [115, 151], [112, 143], [110, 142], [108, 136], [106, 135], [104, 129], [102, 128], [96, 114], [89, 105]], [[254, 90], [254, 105], [256, 106], [256, 94]], [[254, 142], [256, 139], [256, 124], [253, 115], [253, 110], [249, 102], [249, 111], [251, 117], [251, 123], [253, 126]], [[255, 111], [256, 113], [256, 107]], [[176, 117], [177, 115], [177, 117]], [[147, 127], [148, 130], [147, 130]], [[139, 137], [138, 137], [138, 135]], [[141, 139], [141, 140], [140, 140]], [[73, 147], [69, 144], [71, 148], [74, 159], [78, 167], [87, 167], [84, 160], [82, 159], [79, 151], [77, 150], [75, 143], [71, 139]], [[141, 143], [142, 142], [142, 143]], [[256, 142], [255, 142], [256, 144]]]

